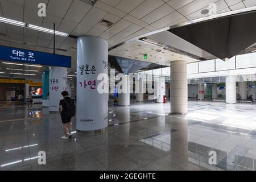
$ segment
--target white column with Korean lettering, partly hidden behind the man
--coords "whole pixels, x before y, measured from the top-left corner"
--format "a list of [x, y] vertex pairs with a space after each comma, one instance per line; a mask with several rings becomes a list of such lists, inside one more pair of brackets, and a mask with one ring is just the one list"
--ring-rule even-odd
[[67, 90], [67, 68], [49, 67], [49, 111], [59, 111], [61, 92]]

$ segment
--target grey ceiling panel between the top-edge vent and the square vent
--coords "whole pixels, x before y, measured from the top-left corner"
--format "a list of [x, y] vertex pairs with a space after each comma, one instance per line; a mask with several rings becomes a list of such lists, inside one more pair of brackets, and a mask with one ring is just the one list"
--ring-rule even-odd
[[102, 11], [96, 7], [92, 7], [88, 14], [81, 20], [80, 24], [84, 24], [89, 27], [93, 27], [96, 23], [100, 22], [100, 20], [108, 14], [106, 11]]

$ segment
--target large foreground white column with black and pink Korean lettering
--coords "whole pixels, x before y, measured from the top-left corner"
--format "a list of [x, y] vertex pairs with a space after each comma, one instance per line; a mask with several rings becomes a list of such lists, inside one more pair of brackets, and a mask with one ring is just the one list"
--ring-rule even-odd
[[108, 92], [108, 42], [96, 36], [80, 36], [77, 39], [77, 131], [108, 127]]

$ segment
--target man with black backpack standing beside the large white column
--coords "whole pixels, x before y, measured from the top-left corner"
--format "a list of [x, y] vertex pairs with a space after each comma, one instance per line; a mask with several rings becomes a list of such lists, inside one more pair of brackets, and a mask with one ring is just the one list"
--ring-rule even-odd
[[71, 138], [71, 118], [76, 113], [76, 107], [72, 98], [68, 96], [67, 91], [61, 92], [61, 95], [64, 97], [63, 100], [60, 100], [59, 113], [61, 116], [61, 121], [63, 123], [64, 136], [62, 139]]

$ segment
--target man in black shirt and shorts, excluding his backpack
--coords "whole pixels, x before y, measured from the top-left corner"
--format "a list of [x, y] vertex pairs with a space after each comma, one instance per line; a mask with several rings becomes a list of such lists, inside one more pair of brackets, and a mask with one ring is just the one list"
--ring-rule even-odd
[[72, 100], [72, 98], [70, 98], [68, 96], [68, 92], [67, 91], [63, 91], [61, 92], [61, 95], [64, 97], [63, 100], [60, 100], [60, 105], [59, 105], [59, 113], [60, 113], [60, 117], [61, 117], [61, 121], [63, 123], [63, 130], [64, 130], [64, 136], [61, 137], [62, 139], [68, 139], [71, 138], [71, 117], [67, 117], [66, 113], [67, 113], [67, 102], [71, 103], [74, 101]]

